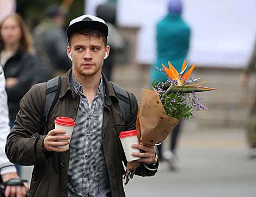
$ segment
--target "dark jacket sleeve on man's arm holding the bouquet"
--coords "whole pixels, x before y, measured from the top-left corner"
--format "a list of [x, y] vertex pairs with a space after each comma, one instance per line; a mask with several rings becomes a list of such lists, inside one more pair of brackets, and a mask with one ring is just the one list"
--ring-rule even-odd
[[[137, 121], [137, 115], [138, 115], [138, 103], [136, 97], [130, 93], [131, 95], [131, 117], [130, 117], [130, 123], [127, 126], [128, 131], [136, 129], [136, 121]], [[125, 166], [127, 166], [127, 161], [124, 156], [123, 158]], [[141, 163], [139, 167], [136, 169], [135, 174], [138, 176], [154, 176], [157, 172], [157, 168], [159, 166], [159, 162], [157, 161], [156, 165], [153, 167], [151, 164], [144, 164]], [[151, 170], [149, 170], [151, 169]], [[153, 169], [153, 170], [152, 170]]]

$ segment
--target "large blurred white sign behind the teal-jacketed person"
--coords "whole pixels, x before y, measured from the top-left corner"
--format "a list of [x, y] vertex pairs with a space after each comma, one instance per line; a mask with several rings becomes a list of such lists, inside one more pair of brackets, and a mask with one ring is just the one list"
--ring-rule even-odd
[[[167, 0], [118, 0], [120, 26], [141, 27], [137, 61], [154, 63], [155, 24]], [[192, 30], [188, 58], [198, 66], [245, 67], [256, 39], [255, 0], [184, 0], [182, 16]], [[164, 29], [163, 29], [164, 30]]]

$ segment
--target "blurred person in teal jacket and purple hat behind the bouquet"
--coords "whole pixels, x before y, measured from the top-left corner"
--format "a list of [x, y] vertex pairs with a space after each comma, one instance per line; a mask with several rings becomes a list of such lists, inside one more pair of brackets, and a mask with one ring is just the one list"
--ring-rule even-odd
[[[180, 0], [170, 0], [168, 2], [168, 13], [156, 24], [156, 52], [157, 59], [150, 69], [150, 82], [155, 79], [166, 81], [167, 75], [164, 72], [157, 71], [154, 67], [162, 68], [162, 63], [168, 65], [172, 63], [175, 69], [180, 73], [182, 63], [186, 59], [190, 45], [190, 27], [181, 17], [182, 2]], [[176, 145], [180, 133], [181, 120], [175, 126], [170, 135], [170, 148], [162, 152], [162, 144], [157, 146], [159, 157], [168, 161], [170, 169], [176, 170], [175, 155]]]

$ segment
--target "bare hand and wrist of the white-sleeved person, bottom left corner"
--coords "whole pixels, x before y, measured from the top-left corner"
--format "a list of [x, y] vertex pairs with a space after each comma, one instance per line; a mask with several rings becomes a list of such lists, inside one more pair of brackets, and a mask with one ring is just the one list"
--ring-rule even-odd
[[[17, 175], [17, 173], [8, 173], [2, 175], [2, 179], [3, 182], [7, 182], [10, 179], [20, 179], [20, 177]], [[10, 197], [25, 197], [29, 186], [27, 183], [23, 184], [24, 186], [6, 186], [4, 195]]]

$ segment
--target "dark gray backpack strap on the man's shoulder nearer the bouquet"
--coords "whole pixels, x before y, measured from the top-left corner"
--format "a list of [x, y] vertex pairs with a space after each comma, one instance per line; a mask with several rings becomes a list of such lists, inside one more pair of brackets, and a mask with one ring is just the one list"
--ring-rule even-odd
[[118, 98], [118, 105], [124, 117], [125, 127], [126, 127], [131, 117], [131, 101], [130, 101], [131, 95], [123, 87], [120, 87], [119, 85], [113, 83], [112, 81], [110, 82], [113, 85], [115, 95]]

